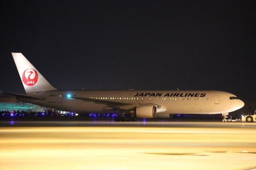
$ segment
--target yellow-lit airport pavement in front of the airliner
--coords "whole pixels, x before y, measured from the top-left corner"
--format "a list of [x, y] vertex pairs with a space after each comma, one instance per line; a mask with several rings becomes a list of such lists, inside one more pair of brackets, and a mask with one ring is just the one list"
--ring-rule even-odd
[[0, 169], [256, 169], [256, 123], [82, 124], [2, 126]]

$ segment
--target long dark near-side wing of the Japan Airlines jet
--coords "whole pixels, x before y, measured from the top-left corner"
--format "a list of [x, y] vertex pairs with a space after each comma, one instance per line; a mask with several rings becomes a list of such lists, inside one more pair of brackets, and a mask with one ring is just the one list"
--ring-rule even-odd
[[132, 102], [123, 102], [123, 101], [111, 101], [111, 100], [105, 100], [105, 99], [93, 99], [90, 97], [79, 97], [79, 96], [71, 96], [70, 98], [78, 99], [82, 101], [90, 101], [97, 104], [108, 105], [109, 107], [119, 108], [119, 109], [126, 109], [126, 108], [130, 109], [140, 105], [152, 105], [152, 106], [156, 106], [158, 109], [161, 108], [161, 105], [156, 105], [154, 103], [132, 103]]

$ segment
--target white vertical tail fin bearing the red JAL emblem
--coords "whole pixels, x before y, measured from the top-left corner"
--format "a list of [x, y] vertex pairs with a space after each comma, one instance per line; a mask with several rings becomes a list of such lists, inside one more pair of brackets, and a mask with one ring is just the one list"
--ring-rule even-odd
[[57, 90], [39, 73], [22, 53], [12, 53], [12, 57], [26, 93]]

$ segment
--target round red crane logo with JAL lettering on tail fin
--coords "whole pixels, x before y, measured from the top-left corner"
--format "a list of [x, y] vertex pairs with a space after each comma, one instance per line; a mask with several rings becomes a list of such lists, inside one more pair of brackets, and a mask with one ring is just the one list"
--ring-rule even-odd
[[38, 73], [34, 69], [26, 69], [22, 74], [22, 81], [29, 86], [35, 85], [38, 81]]

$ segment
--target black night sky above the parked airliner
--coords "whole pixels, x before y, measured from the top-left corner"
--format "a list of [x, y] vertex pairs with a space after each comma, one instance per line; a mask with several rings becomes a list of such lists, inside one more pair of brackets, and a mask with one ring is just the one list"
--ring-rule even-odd
[[0, 2], [0, 90], [25, 93], [11, 52], [59, 89], [256, 94], [256, 1]]

